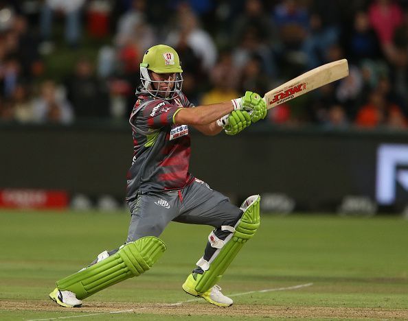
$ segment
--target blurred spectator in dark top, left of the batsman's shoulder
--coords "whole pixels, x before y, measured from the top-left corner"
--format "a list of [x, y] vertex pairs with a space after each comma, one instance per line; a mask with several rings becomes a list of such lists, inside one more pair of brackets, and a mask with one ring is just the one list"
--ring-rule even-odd
[[65, 87], [67, 88], [67, 99], [77, 119], [108, 118], [110, 116], [108, 88], [95, 76], [89, 59], [78, 60], [75, 71], [65, 81]]

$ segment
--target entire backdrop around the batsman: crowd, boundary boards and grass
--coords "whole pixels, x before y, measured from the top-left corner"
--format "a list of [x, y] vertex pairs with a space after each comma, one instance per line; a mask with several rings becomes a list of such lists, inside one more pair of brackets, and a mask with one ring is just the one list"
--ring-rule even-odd
[[[181, 291], [211, 228], [175, 223], [146, 275], [60, 309], [55, 281], [126, 239], [128, 116], [159, 43], [196, 105], [341, 58], [350, 76], [238, 136], [190, 131], [194, 176], [262, 195], [220, 283], [231, 309]], [[0, 319], [406, 320], [407, 126], [407, 0], [0, 1]]]

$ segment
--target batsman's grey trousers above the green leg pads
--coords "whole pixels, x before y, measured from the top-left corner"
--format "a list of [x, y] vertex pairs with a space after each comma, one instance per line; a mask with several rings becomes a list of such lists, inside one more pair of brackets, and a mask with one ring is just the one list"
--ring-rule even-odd
[[[213, 226], [215, 235], [225, 239], [229, 232], [221, 230], [221, 226], [235, 226], [242, 216], [240, 208], [201, 180], [194, 180], [180, 191], [139, 194], [128, 206], [132, 217], [126, 242], [159, 237], [170, 221]], [[207, 242], [204, 259], [208, 261], [215, 250]]]

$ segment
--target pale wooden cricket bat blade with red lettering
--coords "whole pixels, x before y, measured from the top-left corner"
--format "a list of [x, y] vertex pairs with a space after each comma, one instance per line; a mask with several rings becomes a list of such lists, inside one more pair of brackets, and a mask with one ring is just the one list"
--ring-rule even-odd
[[283, 102], [287, 102], [347, 76], [348, 62], [346, 59], [329, 62], [268, 91], [264, 96], [267, 108], [273, 108]]

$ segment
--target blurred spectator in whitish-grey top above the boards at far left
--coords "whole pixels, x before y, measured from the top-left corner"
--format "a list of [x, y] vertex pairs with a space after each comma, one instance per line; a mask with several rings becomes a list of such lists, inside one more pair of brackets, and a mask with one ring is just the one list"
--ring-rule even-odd
[[34, 121], [36, 123], [71, 123], [73, 112], [65, 99], [63, 91], [52, 80], [41, 85], [40, 97], [33, 102]]

